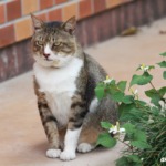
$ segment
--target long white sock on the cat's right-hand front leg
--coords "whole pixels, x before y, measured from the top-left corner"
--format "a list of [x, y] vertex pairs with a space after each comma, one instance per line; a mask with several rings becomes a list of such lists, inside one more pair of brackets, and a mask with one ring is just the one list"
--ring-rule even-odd
[[82, 128], [75, 131], [66, 131], [65, 139], [64, 139], [64, 151], [60, 155], [60, 159], [62, 160], [71, 160], [76, 157], [75, 149], [77, 145], [77, 139], [80, 136]]

